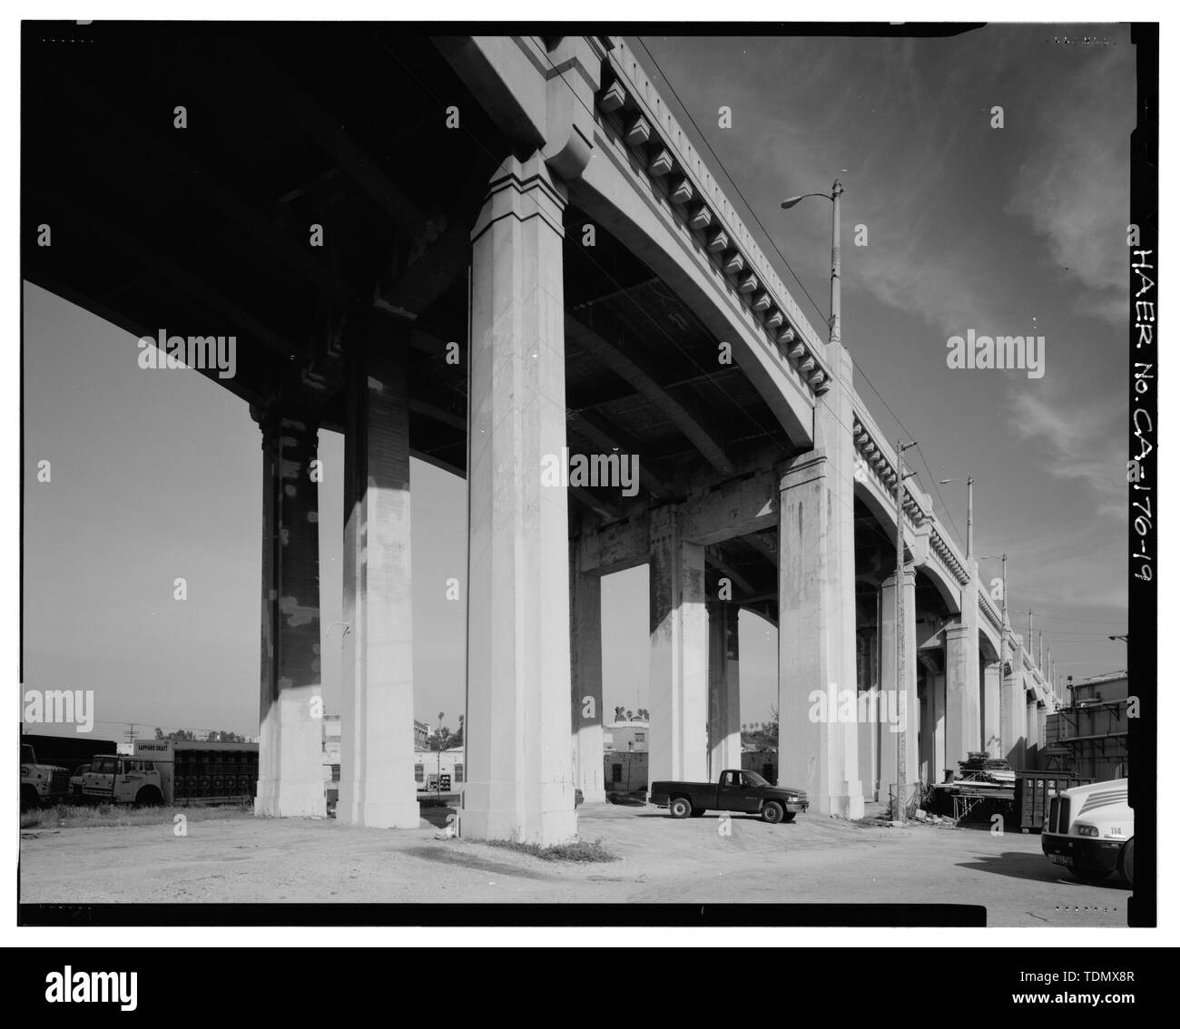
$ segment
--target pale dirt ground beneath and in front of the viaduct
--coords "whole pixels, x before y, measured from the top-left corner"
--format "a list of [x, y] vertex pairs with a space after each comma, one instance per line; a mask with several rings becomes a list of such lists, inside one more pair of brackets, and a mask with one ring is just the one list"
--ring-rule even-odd
[[[445, 811], [424, 812], [438, 825]], [[804, 814], [676, 821], [650, 807], [589, 805], [579, 838], [618, 860], [568, 864], [418, 830], [310, 819], [41, 826], [21, 833], [22, 903], [961, 903], [990, 925], [1126, 925], [1128, 891], [1088, 885], [1036, 834], [868, 826]]]

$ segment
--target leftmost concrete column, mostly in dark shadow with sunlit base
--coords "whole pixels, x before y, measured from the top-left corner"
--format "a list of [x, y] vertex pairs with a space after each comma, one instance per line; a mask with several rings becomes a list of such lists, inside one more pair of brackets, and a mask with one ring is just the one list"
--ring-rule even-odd
[[276, 407], [262, 428], [262, 681], [255, 814], [324, 815], [316, 426]]

